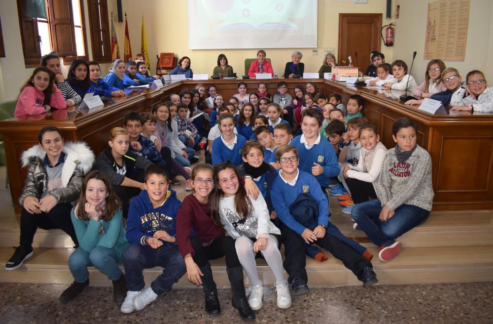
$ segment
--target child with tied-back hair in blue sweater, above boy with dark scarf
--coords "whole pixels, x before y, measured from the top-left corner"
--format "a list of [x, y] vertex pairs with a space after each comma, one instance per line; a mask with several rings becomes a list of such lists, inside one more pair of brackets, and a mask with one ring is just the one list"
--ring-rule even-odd
[[242, 135], [234, 133], [236, 130], [235, 118], [232, 114], [220, 114], [218, 120], [217, 124], [221, 136], [212, 142], [212, 165], [215, 166], [217, 163], [226, 161], [238, 165], [242, 162], [242, 148], [246, 139]]

